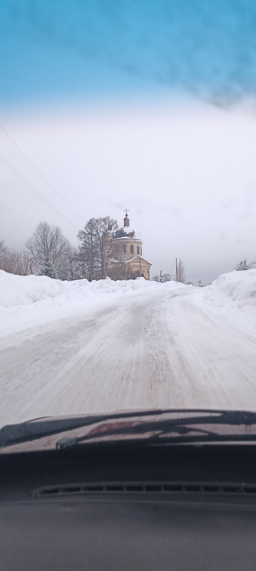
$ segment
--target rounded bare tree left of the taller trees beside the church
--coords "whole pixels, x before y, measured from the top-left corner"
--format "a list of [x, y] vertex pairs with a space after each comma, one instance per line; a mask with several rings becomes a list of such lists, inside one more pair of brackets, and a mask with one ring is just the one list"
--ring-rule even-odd
[[67, 279], [70, 247], [70, 242], [63, 236], [58, 226], [50, 226], [48, 222], [40, 222], [26, 242], [31, 271], [39, 275], [42, 268], [46, 268], [46, 264], [50, 264], [59, 279]]

